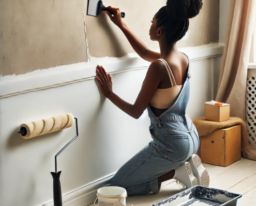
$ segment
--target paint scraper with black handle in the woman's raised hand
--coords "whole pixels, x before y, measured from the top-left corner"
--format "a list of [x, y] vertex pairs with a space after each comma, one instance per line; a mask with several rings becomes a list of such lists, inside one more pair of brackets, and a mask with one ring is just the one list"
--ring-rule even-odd
[[[99, 0], [88, 0], [87, 15], [97, 16], [102, 11], [108, 11], [112, 15], [114, 14], [111, 10], [103, 5], [102, 1]], [[121, 12], [122, 18], [125, 18], [125, 12]]]

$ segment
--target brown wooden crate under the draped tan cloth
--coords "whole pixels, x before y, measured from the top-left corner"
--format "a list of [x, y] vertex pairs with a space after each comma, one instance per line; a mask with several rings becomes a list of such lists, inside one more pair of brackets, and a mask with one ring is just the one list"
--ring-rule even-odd
[[213, 131], [200, 138], [197, 153], [204, 163], [228, 166], [241, 159], [241, 125]]

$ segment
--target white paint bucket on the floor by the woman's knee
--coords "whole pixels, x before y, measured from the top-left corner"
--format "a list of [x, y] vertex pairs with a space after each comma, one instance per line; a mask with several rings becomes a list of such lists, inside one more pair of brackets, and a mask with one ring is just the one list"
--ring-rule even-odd
[[107, 186], [97, 190], [98, 206], [125, 206], [126, 197], [127, 192], [123, 187]]

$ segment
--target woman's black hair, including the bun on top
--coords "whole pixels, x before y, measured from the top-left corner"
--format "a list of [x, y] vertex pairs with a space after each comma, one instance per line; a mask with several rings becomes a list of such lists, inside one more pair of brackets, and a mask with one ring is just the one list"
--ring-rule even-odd
[[202, 0], [168, 0], [157, 12], [157, 27], [163, 29], [169, 45], [185, 36], [189, 18], [198, 15], [202, 5]]

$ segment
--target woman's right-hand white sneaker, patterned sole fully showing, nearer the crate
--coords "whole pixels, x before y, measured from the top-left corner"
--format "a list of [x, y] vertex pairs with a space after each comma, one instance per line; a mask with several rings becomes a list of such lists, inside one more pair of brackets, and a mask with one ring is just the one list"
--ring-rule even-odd
[[192, 167], [194, 176], [198, 179], [199, 185], [208, 187], [210, 184], [210, 178], [208, 171], [202, 165], [201, 159], [197, 155], [192, 155], [188, 162]]

